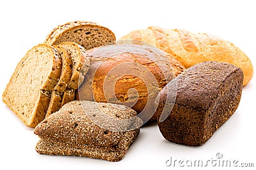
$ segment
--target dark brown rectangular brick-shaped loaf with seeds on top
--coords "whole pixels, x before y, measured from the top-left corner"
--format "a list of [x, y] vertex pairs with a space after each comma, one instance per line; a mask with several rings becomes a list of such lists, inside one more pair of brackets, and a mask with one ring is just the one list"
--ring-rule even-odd
[[[203, 145], [236, 111], [242, 88], [243, 71], [232, 64], [202, 62], [189, 67], [159, 92], [156, 115], [161, 134], [173, 143]], [[166, 96], [173, 90], [175, 103], [166, 116]]]

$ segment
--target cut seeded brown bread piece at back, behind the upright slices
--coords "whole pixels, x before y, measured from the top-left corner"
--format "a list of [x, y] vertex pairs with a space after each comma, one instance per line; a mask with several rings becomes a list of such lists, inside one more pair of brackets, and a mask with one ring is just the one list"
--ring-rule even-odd
[[76, 21], [58, 25], [47, 36], [45, 43], [59, 45], [62, 42], [72, 41], [84, 46], [86, 50], [97, 46], [113, 44], [115, 34], [106, 27], [94, 22]]

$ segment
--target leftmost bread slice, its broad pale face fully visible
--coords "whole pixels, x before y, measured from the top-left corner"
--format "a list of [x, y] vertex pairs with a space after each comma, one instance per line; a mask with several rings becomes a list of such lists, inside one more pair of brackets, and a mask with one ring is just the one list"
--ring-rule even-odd
[[29, 50], [17, 65], [3, 93], [3, 102], [26, 124], [44, 120], [51, 92], [61, 74], [61, 57], [49, 45]]

